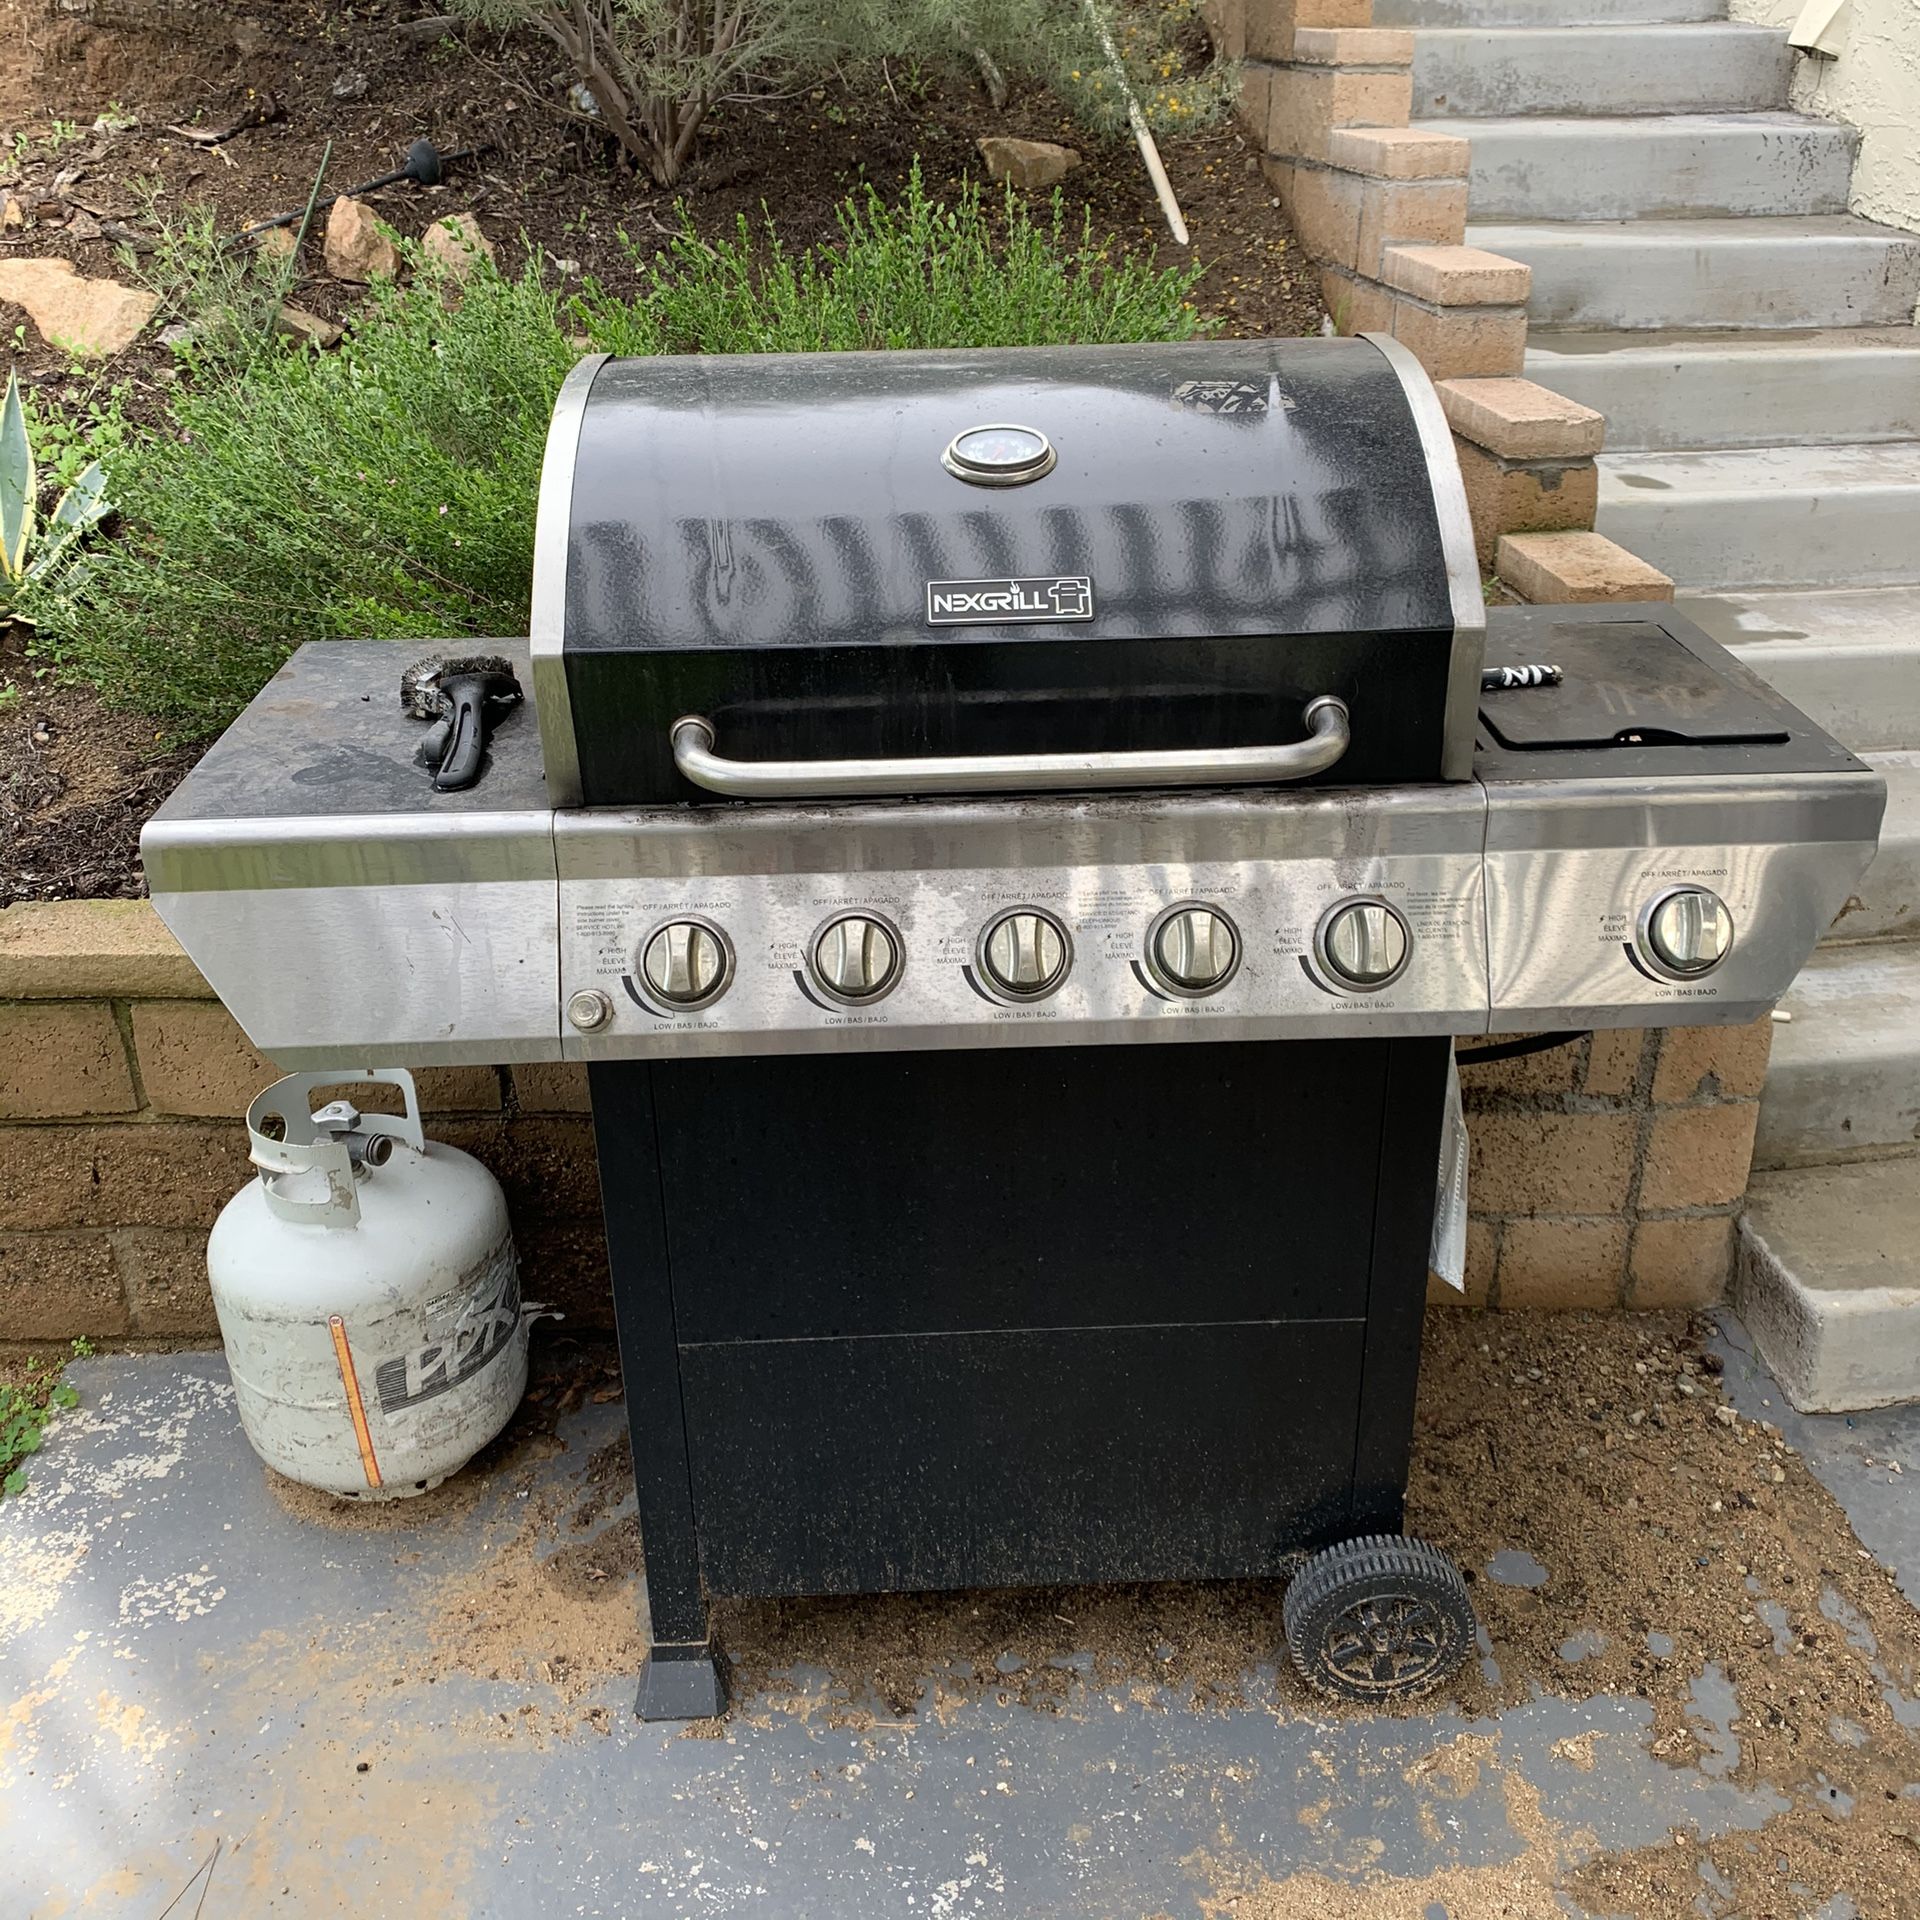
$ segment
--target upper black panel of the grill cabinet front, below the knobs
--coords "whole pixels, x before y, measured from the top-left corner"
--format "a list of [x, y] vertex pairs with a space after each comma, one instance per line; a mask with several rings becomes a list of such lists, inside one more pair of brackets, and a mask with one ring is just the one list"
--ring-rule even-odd
[[678, 1336], [1359, 1317], [1388, 1048], [655, 1064]]

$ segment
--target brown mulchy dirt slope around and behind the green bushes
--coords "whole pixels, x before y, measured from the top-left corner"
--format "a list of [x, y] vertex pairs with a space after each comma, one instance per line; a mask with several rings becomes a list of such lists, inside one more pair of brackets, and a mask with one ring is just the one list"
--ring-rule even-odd
[[[995, 109], [972, 79], [881, 71], [814, 92], [718, 113], [674, 192], [616, 165], [607, 142], [553, 113], [566, 77], [530, 36], [468, 29], [422, 40], [417, 6], [334, 8], [265, 0], [234, 8], [196, 0], [0, 0], [0, 129], [25, 136], [23, 157], [0, 148], [0, 196], [27, 225], [0, 228], [0, 257], [56, 255], [90, 276], [125, 278], [129, 232], [152, 207], [177, 217], [219, 209], [238, 230], [305, 202], [332, 142], [328, 188], [397, 167], [420, 136], [444, 154], [476, 148], [440, 188], [403, 184], [372, 196], [382, 217], [417, 232], [472, 211], [516, 269], [538, 250], [561, 284], [630, 278], [618, 234], [666, 232], [674, 200], [697, 228], [772, 215], [791, 246], [826, 240], [833, 207], [862, 180], [895, 188], [914, 157], [933, 190], [979, 175], [973, 142], [1008, 132], [1075, 146], [1085, 161], [1064, 182], [1069, 213], [1162, 265], [1206, 263], [1198, 300], [1231, 334], [1300, 334], [1321, 323], [1298, 255], [1258, 161], [1240, 134], [1215, 127], [1167, 142], [1165, 163], [1192, 232], [1169, 240], [1131, 142], [1102, 144], [1058, 100], [1018, 88]], [[171, 127], [221, 131], [271, 115], [217, 148]], [[96, 119], [136, 121], [92, 131]], [[61, 136], [56, 123], [73, 127]], [[342, 319], [355, 292], [330, 280], [317, 240], [292, 298]], [[0, 303], [0, 321], [15, 309]], [[129, 411], [157, 419], [173, 374], [154, 328], [113, 361], [75, 371], [31, 324], [12, 365], [23, 384], [79, 401], [94, 382], [127, 382]], [[163, 751], [136, 716], [102, 710], [23, 659], [23, 636], [0, 636], [0, 906], [50, 897], [144, 891], [138, 831], [192, 764]], [[15, 689], [10, 697], [6, 689]]]

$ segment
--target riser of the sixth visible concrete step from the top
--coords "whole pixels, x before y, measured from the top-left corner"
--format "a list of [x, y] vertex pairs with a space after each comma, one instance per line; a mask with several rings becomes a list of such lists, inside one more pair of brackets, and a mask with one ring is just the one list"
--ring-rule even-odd
[[1594, 524], [1686, 588], [1920, 580], [1920, 486], [1738, 497], [1603, 490]]

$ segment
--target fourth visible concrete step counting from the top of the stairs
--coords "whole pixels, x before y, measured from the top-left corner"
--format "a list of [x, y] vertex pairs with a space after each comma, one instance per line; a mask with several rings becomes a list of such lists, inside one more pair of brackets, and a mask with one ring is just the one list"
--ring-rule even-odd
[[1920, 234], [1847, 213], [1697, 221], [1475, 221], [1534, 269], [1534, 326], [1905, 326]]

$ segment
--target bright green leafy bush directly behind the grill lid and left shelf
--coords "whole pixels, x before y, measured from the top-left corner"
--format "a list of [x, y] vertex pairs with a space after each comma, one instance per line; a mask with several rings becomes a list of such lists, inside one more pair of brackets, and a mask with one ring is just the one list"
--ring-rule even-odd
[[1008, 196], [841, 209], [839, 242], [799, 257], [747, 228], [691, 227], [632, 296], [576, 301], [536, 267], [482, 267], [457, 305], [415, 259], [328, 355], [275, 342], [204, 367], [171, 430], [113, 468], [121, 540], [96, 545], [36, 647], [180, 735], [215, 732], [307, 639], [524, 634], [534, 503], [553, 396], [580, 336], [614, 353], [972, 348], [1177, 340], [1200, 269], [1116, 263], [1060, 202]]

